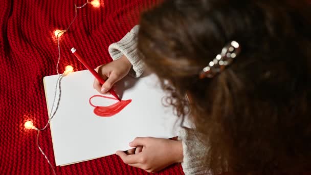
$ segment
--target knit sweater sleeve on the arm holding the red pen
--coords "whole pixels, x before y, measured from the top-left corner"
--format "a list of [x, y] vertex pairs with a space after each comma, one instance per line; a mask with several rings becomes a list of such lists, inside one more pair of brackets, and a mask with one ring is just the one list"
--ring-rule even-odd
[[139, 25], [136, 25], [130, 32], [128, 32], [120, 41], [112, 43], [109, 48], [109, 54], [113, 60], [119, 59], [125, 55], [132, 64], [132, 70], [129, 72], [131, 76], [139, 77], [144, 71], [143, 55], [137, 48], [137, 33]]

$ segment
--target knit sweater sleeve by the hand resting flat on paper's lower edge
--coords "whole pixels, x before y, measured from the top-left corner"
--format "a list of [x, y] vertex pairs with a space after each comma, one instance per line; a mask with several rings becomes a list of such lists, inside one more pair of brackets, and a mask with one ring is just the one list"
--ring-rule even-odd
[[179, 140], [182, 140], [184, 160], [182, 167], [185, 175], [213, 174], [202, 162], [208, 148], [198, 140], [193, 129], [181, 128]]

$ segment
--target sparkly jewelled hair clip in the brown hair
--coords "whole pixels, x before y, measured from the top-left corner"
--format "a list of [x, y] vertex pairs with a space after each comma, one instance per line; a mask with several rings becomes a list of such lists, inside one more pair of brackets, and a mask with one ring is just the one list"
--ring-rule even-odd
[[213, 78], [216, 74], [223, 71], [228, 65], [232, 63], [234, 58], [241, 52], [241, 48], [238, 42], [231, 41], [228, 43], [221, 53], [209, 62], [209, 65], [201, 71], [199, 78]]

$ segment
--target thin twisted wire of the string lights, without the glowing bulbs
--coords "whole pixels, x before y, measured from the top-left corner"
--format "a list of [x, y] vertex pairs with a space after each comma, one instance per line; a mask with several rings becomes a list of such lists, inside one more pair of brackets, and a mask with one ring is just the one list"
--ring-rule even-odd
[[[62, 30], [62, 31], [60, 31], [60, 32], [57, 33], [57, 36], [56, 36], [56, 37], [57, 37], [57, 47], [58, 47], [58, 60], [57, 60], [57, 64], [56, 64], [56, 72], [57, 72], [57, 74], [59, 75], [59, 77], [57, 78], [57, 81], [56, 81], [55, 93], [54, 93], [54, 100], [53, 100], [51, 112], [50, 112], [50, 115], [49, 115], [50, 117], [49, 117], [49, 120], [48, 120], [47, 124], [46, 124], [43, 128], [39, 129], [39, 128], [35, 127], [35, 126], [32, 127], [33, 129], [37, 130], [37, 139], [36, 139], [37, 147], [39, 148], [41, 154], [42, 154], [43, 156], [45, 156], [47, 162], [49, 163], [50, 167], [51, 167], [52, 170], [53, 170], [54, 175], [56, 175], [55, 168], [53, 167], [53, 165], [52, 165], [52, 163], [50, 162], [49, 158], [47, 157], [47, 155], [45, 154], [45, 152], [42, 150], [42, 148], [41, 148], [40, 145], [39, 145], [39, 134], [40, 134], [40, 132], [41, 132], [42, 130], [45, 130], [45, 129], [48, 127], [48, 125], [50, 124], [51, 120], [52, 120], [53, 117], [55, 116], [55, 114], [56, 114], [56, 112], [57, 112], [57, 110], [58, 110], [58, 106], [59, 106], [59, 103], [60, 103], [60, 97], [61, 97], [61, 79], [62, 79], [64, 76], [66, 76], [67, 74], [70, 73], [70, 72], [68, 72], [68, 71], [66, 70], [63, 74], [60, 74], [59, 71], [58, 71], [58, 65], [59, 65], [59, 61], [60, 61], [60, 43], [59, 43], [59, 37], [60, 37], [63, 33], [67, 32], [67, 31], [70, 29], [70, 27], [72, 26], [72, 24], [74, 23], [74, 21], [75, 21], [76, 18], [77, 18], [78, 9], [81, 9], [81, 8], [85, 7], [87, 4], [91, 4], [91, 2], [90, 2], [89, 0], [87, 0], [86, 3], [84, 3], [82, 6], [77, 6], [77, 5], [75, 4], [75, 16], [74, 16], [73, 20], [71, 21], [70, 25], [69, 25], [68, 28], [66, 28], [65, 30]], [[57, 104], [56, 104], [56, 107], [55, 107], [55, 111], [54, 111], [54, 113], [53, 113], [53, 109], [54, 109], [54, 105], [55, 105], [55, 101], [56, 101], [57, 86], [58, 86], [58, 89], [59, 89], [59, 95], [58, 95], [58, 100], [57, 100]]]

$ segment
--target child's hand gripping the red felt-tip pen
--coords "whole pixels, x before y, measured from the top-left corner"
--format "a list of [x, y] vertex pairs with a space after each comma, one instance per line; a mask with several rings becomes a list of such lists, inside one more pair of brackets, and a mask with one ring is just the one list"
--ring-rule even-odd
[[131, 66], [131, 63], [124, 55], [108, 64], [100, 65], [96, 68], [96, 71], [105, 80], [105, 83], [101, 85], [95, 78], [94, 89], [101, 94], [106, 94], [117, 81], [128, 74]]

